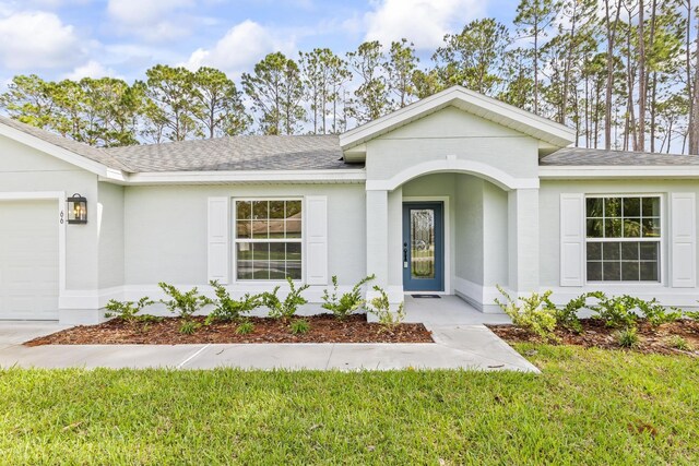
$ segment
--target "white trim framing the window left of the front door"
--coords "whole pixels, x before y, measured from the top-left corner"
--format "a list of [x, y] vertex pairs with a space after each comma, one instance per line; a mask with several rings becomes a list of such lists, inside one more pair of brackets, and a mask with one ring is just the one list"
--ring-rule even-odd
[[[274, 196], [256, 196], [256, 198], [232, 198], [232, 210], [233, 210], [233, 217], [230, 219], [230, 223], [233, 224], [233, 235], [232, 235], [232, 240], [233, 240], [233, 279], [232, 279], [232, 284], [237, 285], [237, 284], [245, 284], [245, 285], [280, 285], [280, 286], [284, 286], [287, 284], [287, 282], [285, 279], [240, 279], [238, 278], [238, 248], [236, 247], [236, 244], [238, 242], [250, 242], [253, 241], [252, 238], [240, 238], [238, 239], [238, 212], [237, 212], [237, 203], [238, 202], [254, 202], [254, 201], [300, 201], [301, 203], [301, 237], [300, 238], [277, 238], [277, 239], [265, 239], [265, 240], [258, 240], [257, 242], [298, 242], [299, 244], [301, 244], [301, 277], [299, 279], [294, 279], [292, 282], [294, 282], [295, 284], [300, 284], [300, 283], [305, 283], [306, 282], [306, 199], [304, 196], [298, 196], [298, 195], [289, 195], [289, 196], [280, 196], [280, 195], [274, 195]], [[291, 239], [291, 241], [289, 241]]]

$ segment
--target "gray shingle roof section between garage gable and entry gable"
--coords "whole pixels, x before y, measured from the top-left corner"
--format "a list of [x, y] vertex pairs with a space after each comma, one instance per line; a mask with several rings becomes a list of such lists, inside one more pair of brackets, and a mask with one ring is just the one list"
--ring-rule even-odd
[[337, 135], [246, 135], [112, 147], [135, 171], [324, 170], [342, 160]]

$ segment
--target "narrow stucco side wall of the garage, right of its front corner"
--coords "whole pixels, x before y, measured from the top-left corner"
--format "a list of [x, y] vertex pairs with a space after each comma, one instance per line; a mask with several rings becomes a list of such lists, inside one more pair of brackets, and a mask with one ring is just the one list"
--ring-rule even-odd
[[123, 187], [98, 183], [99, 288], [123, 285]]

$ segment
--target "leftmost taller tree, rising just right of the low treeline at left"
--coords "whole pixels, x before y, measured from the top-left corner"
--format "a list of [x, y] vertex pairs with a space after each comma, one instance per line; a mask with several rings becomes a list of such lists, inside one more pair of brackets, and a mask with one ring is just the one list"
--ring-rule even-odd
[[162, 136], [170, 141], [201, 136], [203, 131], [197, 115], [202, 97], [194, 86], [193, 73], [183, 67], [156, 64], [145, 75], [145, 95], [153, 104], [145, 112], [149, 122], [161, 126]]

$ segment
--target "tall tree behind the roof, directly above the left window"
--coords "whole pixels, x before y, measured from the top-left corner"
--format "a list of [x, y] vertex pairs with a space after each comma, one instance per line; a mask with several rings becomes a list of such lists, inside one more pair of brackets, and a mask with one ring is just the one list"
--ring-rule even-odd
[[295, 134], [306, 118], [300, 105], [304, 96], [296, 62], [282, 52], [269, 53], [254, 65], [254, 74], [242, 73], [242, 88], [261, 113], [263, 134]]

